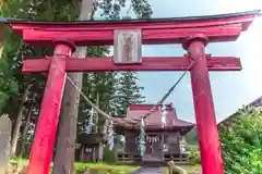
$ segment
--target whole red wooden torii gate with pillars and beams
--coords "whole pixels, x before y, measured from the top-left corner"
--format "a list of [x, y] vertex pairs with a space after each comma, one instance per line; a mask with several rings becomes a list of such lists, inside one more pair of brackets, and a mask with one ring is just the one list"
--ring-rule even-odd
[[[209, 71], [240, 71], [238, 58], [205, 54], [209, 42], [235, 41], [260, 11], [158, 20], [109, 22], [12, 22], [11, 26], [31, 45], [53, 45], [47, 59], [28, 59], [23, 73], [48, 72], [41, 110], [33, 142], [27, 174], [48, 174], [67, 74], [64, 72], [186, 71], [191, 59], [191, 82], [203, 174], [223, 174], [223, 160]], [[71, 58], [75, 46], [114, 44], [114, 30], [141, 29], [142, 44], [180, 44], [184, 57], [143, 58], [140, 64], [114, 64], [112, 58]]]

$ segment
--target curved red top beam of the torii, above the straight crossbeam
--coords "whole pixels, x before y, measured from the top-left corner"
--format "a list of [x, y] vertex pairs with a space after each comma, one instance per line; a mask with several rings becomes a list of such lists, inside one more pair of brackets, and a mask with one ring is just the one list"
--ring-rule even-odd
[[247, 30], [260, 10], [195, 17], [82, 21], [82, 22], [17, 22], [10, 25], [33, 45], [50, 45], [55, 40], [73, 41], [76, 46], [114, 44], [115, 29], [142, 29], [144, 45], [182, 44], [186, 38], [203, 34], [211, 42], [234, 41]]

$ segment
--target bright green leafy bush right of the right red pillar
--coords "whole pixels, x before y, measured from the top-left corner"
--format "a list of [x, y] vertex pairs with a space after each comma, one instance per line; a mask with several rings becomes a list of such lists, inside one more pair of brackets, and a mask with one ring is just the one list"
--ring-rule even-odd
[[262, 171], [262, 112], [247, 109], [219, 133], [225, 174]]

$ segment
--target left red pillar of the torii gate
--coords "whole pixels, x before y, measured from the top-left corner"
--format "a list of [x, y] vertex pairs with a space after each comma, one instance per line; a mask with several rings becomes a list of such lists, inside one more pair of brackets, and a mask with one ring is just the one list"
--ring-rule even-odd
[[55, 45], [35, 138], [31, 149], [31, 160], [26, 169], [27, 174], [48, 174], [52, 159], [52, 148], [67, 78], [66, 59], [75, 50], [69, 41], [58, 41]]

